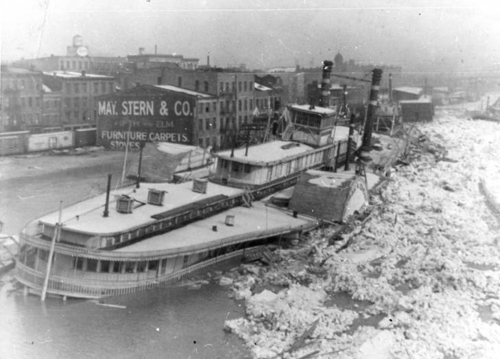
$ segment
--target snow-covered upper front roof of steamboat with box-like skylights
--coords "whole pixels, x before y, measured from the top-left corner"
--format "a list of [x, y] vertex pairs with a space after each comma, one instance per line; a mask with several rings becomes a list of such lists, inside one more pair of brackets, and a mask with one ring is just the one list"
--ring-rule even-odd
[[[235, 196], [242, 192], [241, 189], [217, 185], [217, 183], [209, 183], [206, 194], [193, 192], [192, 187], [193, 182], [189, 181], [180, 184], [141, 183], [141, 187], [138, 189], [135, 188], [135, 185], [115, 189], [110, 192], [108, 217], [103, 216], [106, 194], [102, 194], [64, 208], [61, 217], [63, 228], [69, 231], [95, 233], [95, 235], [121, 233], [134, 227], [153, 223], [156, 220], [152, 216], [165, 216], [165, 213], [169, 211], [174, 213], [176, 209], [186, 208], [185, 206], [191, 205], [193, 202], [208, 201], [217, 196]], [[147, 194], [150, 188], [167, 192], [163, 206], [147, 203]], [[146, 204], [140, 205], [139, 202], [134, 201], [135, 208], [132, 213], [119, 213], [116, 210], [116, 201], [122, 194]], [[40, 218], [40, 222], [55, 225], [58, 222], [58, 212]]]

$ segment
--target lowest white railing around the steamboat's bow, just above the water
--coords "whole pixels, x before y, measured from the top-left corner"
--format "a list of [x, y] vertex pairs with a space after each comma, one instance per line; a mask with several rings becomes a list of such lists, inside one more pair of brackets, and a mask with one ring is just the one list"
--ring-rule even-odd
[[[99, 298], [110, 295], [130, 294], [157, 286], [171, 286], [179, 281], [202, 275], [206, 273], [206, 270], [215, 270], [223, 265], [235, 264], [241, 261], [243, 255], [257, 255], [263, 250], [264, 246], [241, 249], [198, 264], [193, 264], [173, 273], [139, 281], [117, 281], [116, 277], [110, 279], [76, 279], [61, 275], [51, 275], [48, 283], [48, 292], [68, 295], [70, 297]], [[39, 292], [43, 287], [45, 273], [18, 262], [15, 269], [15, 277], [21, 283]]]

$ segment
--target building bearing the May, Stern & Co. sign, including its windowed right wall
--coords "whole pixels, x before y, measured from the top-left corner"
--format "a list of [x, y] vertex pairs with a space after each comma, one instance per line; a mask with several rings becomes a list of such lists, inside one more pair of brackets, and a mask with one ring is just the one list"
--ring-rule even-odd
[[106, 148], [137, 150], [145, 142], [219, 147], [217, 97], [172, 85], [140, 85], [99, 96], [97, 138]]

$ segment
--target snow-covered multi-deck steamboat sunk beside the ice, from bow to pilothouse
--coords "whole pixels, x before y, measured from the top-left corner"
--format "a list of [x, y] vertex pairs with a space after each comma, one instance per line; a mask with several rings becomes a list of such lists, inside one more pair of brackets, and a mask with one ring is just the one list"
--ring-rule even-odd
[[128, 294], [262, 257], [270, 238], [317, 227], [311, 213], [263, 199], [307, 170], [348, 162], [359, 141], [353, 127], [336, 126], [331, 108], [289, 111], [281, 139], [215, 153], [206, 178], [139, 184], [138, 175], [136, 185], [112, 191], [109, 175], [105, 194], [30, 222], [15, 278], [42, 299]]

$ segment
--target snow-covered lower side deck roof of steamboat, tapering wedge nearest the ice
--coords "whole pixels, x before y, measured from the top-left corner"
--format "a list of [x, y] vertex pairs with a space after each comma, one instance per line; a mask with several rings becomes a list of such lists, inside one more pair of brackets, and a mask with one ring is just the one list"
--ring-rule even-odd
[[[225, 224], [228, 215], [235, 216], [233, 226]], [[168, 233], [115, 249], [114, 252], [168, 251], [189, 246], [196, 251], [210, 246], [219, 246], [221, 242], [230, 243], [261, 238], [266, 231], [276, 231], [281, 227], [289, 231], [314, 223], [316, 221], [312, 218], [305, 216], [294, 218], [291, 213], [266, 206], [263, 202], [253, 202], [253, 207], [234, 207]], [[213, 231], [213, 226], [217, 226], [217, 231]]]

